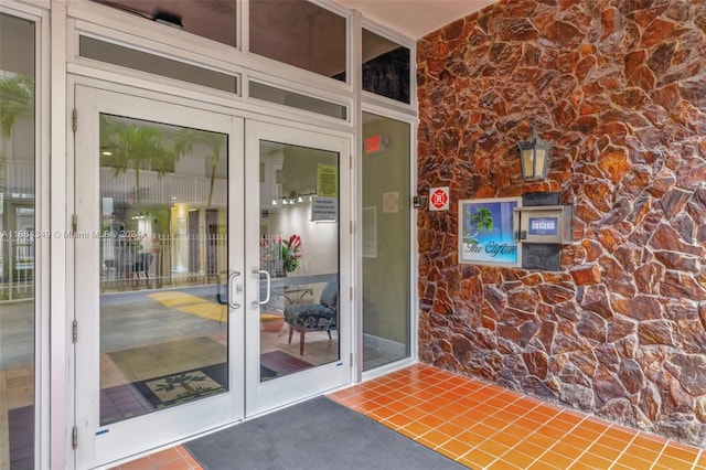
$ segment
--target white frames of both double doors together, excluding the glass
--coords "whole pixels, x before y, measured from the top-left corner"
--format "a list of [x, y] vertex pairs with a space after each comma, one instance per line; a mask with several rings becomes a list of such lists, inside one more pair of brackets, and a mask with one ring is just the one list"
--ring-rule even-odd
[[[99, 168], [98, 164], [82, 164], [87, 161], [87, 157], [82, 156], [95, 154], [98, 150], [99, 113], [205, 128], [231, 136], [228, 143], [228, 234], [231, 238], [228, 261], [231, 270], [243, 274], [242, 281], [245, 288], [244, 292], [234, 296], [235, 302], [243, 307], [229, 311], [229, 393], [181, 405], [174, 408], [173, 414], [168, 409], [108, 427], [100, 427], [98, 418], [98, 322], [85, 321], [85, 313], [83, 318], [78, 313], [78, 342], [74, 346], [74, 354], [69, 355], [69, 371], [74, 376], [67, 387], [73, 398], [69, 399], [72, 402], [69, 409], [73, 410], [77, 428], [77, 451], [73, 455], [73, 459], [69, 459], [73, 460], [73, 467], [93, 468], [125, 459], [130, 455], [194, 437], [218, 426], [233, 424], [352, 383], [354, 375], [352, 340], [355, 331], [352, 316], [353, 301], [350, 293], [353, 269], [353, 237], [350, 227], [354, 205], [350, 167], [352, 136], [345, 132], [318, 130], [310, 125], [287, 124], [282, 119], [272, 119], [280, 122], [279, 125], [255, 119], [245, 120], [234, 117], [234, 110], [231, 108], [223, 107], [215, 111], [210, 109], [213, 106], [205, 105], [202, 108], [194, 102], [186, 102], [191, 106], [179, 105], [176, 103], [180, 100], [176, 98], [172, 98], [173, 103], [169, 103], [157, 93], [137, 89], [132, 93], [131, 89], [120, 85], [103, 86], [92, 81], [88, 81], [88, 84], [74, 84], [73, 94], [79, 130], [75, 136], [69, 133], [69, 140], [73, 140], [74, 146], [74, 157], [69, 158], [74, 168], [71, 170], [69, 181], [75, 181], [72, 200], [73, 213], [76, 214], [77, 221], [75, 227], [77, 234], [90, 233], [95, 229], [94, 226], [99, 227], [98, 211], [95, 210], [95, 201], [99, 197]], [[247, 115], [252, 116], [250, 113]], [[260, 329], [259, 309], [253, 306], [259, 297], [258, 277], [252, 275], [253, 270], [259, 268], [259, 249], [256, 248], [259, 246], [257, 223], [259, 221], [259, 156], [257, 150], [252, 149], [259, 147], [260, 138], [282, 143], [309, 145], [340, 154], [340, 361], [291, 374], [291, 376], [279, 377], [269, 383], [259, 382], [259, 340], [253, 340], [259, 337], [254, 333], [246, 335], [246, 331], [259, 332]], [[248, 158], [246, 158], [246, 148]], [[250, 223], [246, 223], [246, 214], [250, 214], [248, 215], [253, 218]], [[67, 269], [68, 273], [75, 274], [73, 281], [75, 291], [71, 296], [74, 314], [98, 311], [98, 276], [77, 277], [97, 269], [97, 245], [92, 247], [90, 242], [90, 237], [69, 241], [68, 253], [72, 253], [75, 258], [74, 261], [68, 261]], [[90, 253], [92, 249], [95, 250], [93, 260], [90, 257], [81, 255], [81, 253]], [[82, 291], [95, 292], [96, 296], [85, 296]], [[68, 323], [72, 321], [71, 313], [67, 316], [67, 321]], [[71, 331], [71, 324], [67, 325], [67, 331]], [[87, 378], [79, 381], [79, 377]], [[184, 417], [194, 417], [193, 421], [182, 418], [180, 425], [174, 427], [173, 419], [162, 419], [159, 416], [160, 414], [180, 416], [181, 412]], [[66, 435], [71, 436], [74, 426], [72, 419], [67, 426]], [[136, 428], [139, 429], [139, 434], [136, 434]], [[139, 440], [135, 440], [135, 436], [139, 436]], [[152, 438], [146, 439], [147, 436]], [[67, 445], [72, 445], [71, 438], [67, 439]]]

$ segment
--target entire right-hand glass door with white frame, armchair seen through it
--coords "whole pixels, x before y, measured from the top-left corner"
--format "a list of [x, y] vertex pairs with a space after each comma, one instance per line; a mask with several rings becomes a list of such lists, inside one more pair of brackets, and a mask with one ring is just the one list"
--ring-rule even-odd
[[245, 130], [246, 415], [255, 415], [351, 381], [351, 145], [255, 120]]

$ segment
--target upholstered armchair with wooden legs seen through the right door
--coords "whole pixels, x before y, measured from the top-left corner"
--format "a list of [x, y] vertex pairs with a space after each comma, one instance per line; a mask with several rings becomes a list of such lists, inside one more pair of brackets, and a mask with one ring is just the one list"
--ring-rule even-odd
[[296, 303], [285, 307], [285, 321], [289, 325], [289, 343], [295, 331], [299, 333], [299, 354], [304, 353], [304, 334], [336, 329], [339, 312], [339, 282], [330, 281], [321, 291], [319, 303]]

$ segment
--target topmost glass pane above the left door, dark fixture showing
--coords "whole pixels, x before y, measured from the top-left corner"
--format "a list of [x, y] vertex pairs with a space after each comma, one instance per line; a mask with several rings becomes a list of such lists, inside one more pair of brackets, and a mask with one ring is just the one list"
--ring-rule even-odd
[[236, 43], [236, 2], [214, 0], [93, 0], [223, 44]]

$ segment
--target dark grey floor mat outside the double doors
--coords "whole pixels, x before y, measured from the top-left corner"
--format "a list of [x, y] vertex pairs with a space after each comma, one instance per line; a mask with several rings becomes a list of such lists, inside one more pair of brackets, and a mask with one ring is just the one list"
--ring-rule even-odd
[[463, 468], [325, 397], [192, 440], [185, 447], [207, 470]]

